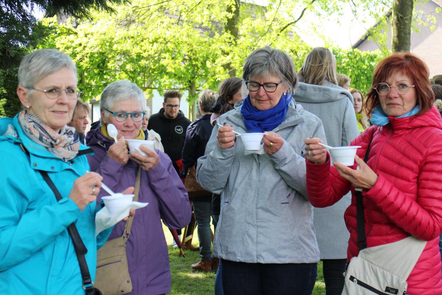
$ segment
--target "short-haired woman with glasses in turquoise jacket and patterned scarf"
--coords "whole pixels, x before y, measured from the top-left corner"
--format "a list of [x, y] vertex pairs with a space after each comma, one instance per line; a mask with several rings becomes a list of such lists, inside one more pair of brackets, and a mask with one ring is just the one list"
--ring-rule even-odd
[[[67, 226], [74, 222], [83, 239], [92, 281], [97, 246], [111, 229], [95, 238], [102, 178], [88, 172], [90, 149], [66, 125], [77, 102], [76, 67], [69, 56], [42, 49], [25, 56], [18, 77], [25, 110], [0, 119], [0, 294], [84, 294]], [[60, 201], [38, 170], [48, 173]]]

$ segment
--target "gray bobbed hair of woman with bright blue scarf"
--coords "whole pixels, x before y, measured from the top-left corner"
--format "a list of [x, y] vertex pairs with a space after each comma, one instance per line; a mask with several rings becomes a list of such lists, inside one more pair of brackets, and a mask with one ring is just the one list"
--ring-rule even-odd
[[266, 46], [253, 51], [246, 59], [243, 68], [243, 84], [251, 77], [278, 76], [282, 84], [293, 93], [298, 87], [293, 60], [284, 52]]

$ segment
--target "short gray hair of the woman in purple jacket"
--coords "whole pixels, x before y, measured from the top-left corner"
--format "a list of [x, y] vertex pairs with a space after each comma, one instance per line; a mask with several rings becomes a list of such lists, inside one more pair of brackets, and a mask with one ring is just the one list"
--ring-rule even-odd
[[[100, 110], [107, 109], [111, 111], [115, 102], [119, 100], [133, 99], [139, 102], [141, 111], [146, 110], [146, 97], [143, 90], [141, 90], [137, 84], [128, 80], [118, 80], [112, 82], [101, 93], [100, 98]], [[106, 118], [110, 115], [109, 112], [105, 112]]]

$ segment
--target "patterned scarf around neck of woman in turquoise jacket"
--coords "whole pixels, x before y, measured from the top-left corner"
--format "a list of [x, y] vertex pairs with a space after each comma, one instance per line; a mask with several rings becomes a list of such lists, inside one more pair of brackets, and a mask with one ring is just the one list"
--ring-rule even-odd
[[67, 162], [77, 156], [80, 144], [74, 127], [66, 125], [57, 133], [27, 110], [20, 112], [18, 120], [33, 142], [45, 147], [57, 158]]

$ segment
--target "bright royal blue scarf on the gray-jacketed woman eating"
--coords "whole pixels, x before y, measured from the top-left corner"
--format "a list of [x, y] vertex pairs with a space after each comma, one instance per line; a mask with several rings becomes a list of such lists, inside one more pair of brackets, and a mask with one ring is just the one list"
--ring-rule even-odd
[[264, 132], [275, 129], [285, 119], [287, 106], [292, 98], [291, 93], [282, 94], [275, 107], [259, 111], [252, 106], [250, 95], [248, 95], [241, 107], [241, 115], [243, 115], [247, 132]]

